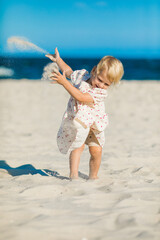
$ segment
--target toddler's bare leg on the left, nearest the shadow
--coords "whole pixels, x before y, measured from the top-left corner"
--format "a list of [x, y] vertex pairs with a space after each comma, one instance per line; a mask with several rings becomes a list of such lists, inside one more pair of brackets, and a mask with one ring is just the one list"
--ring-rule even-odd
[[81, 154], [84, 150], [84, 144], [70, 153], [69, 156], [69, 165], [70, 165], [70, 178], [77, 179], [78, 178], [78, 167], [80, 162]]

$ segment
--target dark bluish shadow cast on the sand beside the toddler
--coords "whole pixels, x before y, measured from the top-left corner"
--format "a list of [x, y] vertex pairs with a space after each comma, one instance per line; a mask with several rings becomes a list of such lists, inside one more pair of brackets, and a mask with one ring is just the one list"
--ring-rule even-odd
[[20, 176], [20, 175], [35, 175], [35, 174], [40, 174], [41, 176], [52, 176], [59, 178], [61, 180], [70, 180], [68, 177], [61, 176], [58, 172], [56, 171], [51, 171], [49, 169], [36, 169], [33, 167], [31, 164], [25, 164], [17, 168], [12, 168], [10, 167], [6, 161], [0, 160], [0, 169], [5, 169], [8, 174], [11, 176]]

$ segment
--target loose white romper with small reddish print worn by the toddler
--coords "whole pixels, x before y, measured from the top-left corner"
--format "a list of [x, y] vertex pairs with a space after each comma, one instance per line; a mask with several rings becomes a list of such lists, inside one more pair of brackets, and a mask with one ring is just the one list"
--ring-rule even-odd
[[83, 93], [89, 93], [94, 103], [82, 103], [72, 96], [70, 97], [57, 134], [57, 145], [63, 154], [81, 147], [90, 130], [94, 133], [99, 145], [104, 146], [104, 129], [108, 125], [108, 116], [105, 113], [104, 105], [107, 90], [93, 88], [86, 82], [89, 78], [90, 75], [85, 69], [74, 71], [71, 74], [73, 86]]

